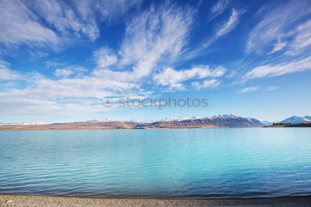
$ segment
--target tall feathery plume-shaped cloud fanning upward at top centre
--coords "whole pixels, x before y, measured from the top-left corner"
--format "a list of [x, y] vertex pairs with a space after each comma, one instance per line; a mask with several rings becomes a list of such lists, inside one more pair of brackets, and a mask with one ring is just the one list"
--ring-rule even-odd
[[165, 3], [132, 18], [119, 54], [123, 65], [134, 64], [136, 77], [147, 76], [157, 63], [185, 49], [197, 10]]

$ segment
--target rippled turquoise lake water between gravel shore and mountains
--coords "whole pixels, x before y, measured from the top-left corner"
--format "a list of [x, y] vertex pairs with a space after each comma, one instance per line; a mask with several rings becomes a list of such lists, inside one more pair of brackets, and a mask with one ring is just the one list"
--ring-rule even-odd
[[0, 193], [311, 195], [311, 128], [0, 131]]

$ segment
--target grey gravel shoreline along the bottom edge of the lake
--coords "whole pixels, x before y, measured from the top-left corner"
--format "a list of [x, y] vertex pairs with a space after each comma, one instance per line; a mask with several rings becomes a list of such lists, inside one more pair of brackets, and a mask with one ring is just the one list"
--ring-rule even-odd
[[[12, 200], [10, 203], [5, 203]], [[145, 198], [93, 198], [43, 195], [0, 194], [0, 206], [311, 206], [311, 195], [226, 198], [226, 199], [145, 199]]]

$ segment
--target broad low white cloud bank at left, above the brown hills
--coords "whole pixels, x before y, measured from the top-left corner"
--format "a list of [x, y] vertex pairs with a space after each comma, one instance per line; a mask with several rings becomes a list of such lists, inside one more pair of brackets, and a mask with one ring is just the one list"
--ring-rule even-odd
[[[10, 89], [0, 93], [1, 111], [11, 114], [60, 115], [94, 113], [112, 108], [103, 107], [105, 97], [149, 94], [136, 84], [103, 79], [95, 76], [58, 80], [40, 78], [32, 80], [25, 89]], [[62, 102], [70, 97], [83, 98], [88, 102]]]

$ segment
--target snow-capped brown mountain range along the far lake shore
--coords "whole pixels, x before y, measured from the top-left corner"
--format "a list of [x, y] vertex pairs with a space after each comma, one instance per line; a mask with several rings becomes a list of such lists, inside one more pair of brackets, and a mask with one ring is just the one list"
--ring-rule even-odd
[[[311, 123], [311, 116], [292, 116], [281, 121], [281, 123]], [[277, 121], [274, 121], [277, 122]], [[159, 120], [115, 120], [115, 119], [94, 119], [88, 121], [65, 122], [65, 123], [1, 123], [0, 126], [25, 126], [27, 128], [232, 128], [232, 127], [263, 127], [272, 125], [273, 122], [259, 121], [251, 117], [241, 117], [234, 114], [223, 114], [211, 117], [170, 117]], [[280, 123], [280, 122], [278, 122]], [[34, 126], [35, 125], [35, 126]], [[25, 128], [24, 127], [24, 128]]]

